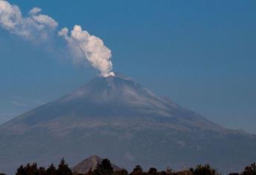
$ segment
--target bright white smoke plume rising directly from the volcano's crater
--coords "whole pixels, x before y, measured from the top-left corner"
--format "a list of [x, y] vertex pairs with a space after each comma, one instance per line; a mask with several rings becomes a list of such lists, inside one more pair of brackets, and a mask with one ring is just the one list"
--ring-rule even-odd
[[68, 42], [68, 46], [76, 54], [76, 58], [82, 61], [88, 60], [92, 67], [99, 70], [102, 76], [114, 76], [111, 62], [111, 50], [108, 49], [96, 36], [91, 36], [82, 27], [75, 25], [68, 36], [68, 28], [59, 31], [59, 36], [63, 36]]

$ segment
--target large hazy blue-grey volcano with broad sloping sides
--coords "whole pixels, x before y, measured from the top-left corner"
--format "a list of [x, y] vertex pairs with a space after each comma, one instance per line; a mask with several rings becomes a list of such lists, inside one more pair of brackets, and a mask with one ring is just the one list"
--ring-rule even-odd
[[0, 125], [0, 171], [27, 162], [70, 165], [96, 154], [120, 167], [181, 169], [209, 163], [222, 172], [255, 161], [256, 136], [223, 128], [142, 87], [97, 76], [67, 96]]

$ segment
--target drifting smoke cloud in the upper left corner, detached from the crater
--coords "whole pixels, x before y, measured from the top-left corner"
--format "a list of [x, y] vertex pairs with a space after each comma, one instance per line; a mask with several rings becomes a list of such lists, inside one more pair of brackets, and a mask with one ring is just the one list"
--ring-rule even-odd
[[18, 36], [29, 40], [47, 39], [58, 23], [50, 16], [39, 14], [41, 9], [34, 7], [27, 17], [17, 5], [0, 0], [0, 26]]

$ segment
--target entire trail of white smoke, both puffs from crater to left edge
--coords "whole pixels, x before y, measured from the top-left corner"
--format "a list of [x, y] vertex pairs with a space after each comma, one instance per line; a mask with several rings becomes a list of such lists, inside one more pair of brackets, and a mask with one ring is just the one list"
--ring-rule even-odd
[[[41, 11], [39, 7], [33, 7], [24, 17], [17, 5], [0, 0], [0, 26], [24, 39], [43, 41], [51, 36], [58, 23], [50, 16], [41, 14]], [[70, 35], [68, 28], [63, 28], [59, 31], [59, 36], [68, 43], [73, 58], [78, 59], [80, 63], [88, 61], [102, 76], [114, 76], [111, 71], [111, 50], [105, 46], [102, 39], [90, 35], [79, 25], [73, 27]]]

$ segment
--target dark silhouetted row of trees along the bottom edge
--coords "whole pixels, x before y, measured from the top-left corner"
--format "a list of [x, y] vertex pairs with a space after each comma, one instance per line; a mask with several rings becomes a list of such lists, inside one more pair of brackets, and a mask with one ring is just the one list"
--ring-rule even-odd
[[[197, 165], [194, 168], [186, 168], [181, 171], [173, 171], [171, 168], [167, 168], [166, 171], [157, 171], [157, 168], [149, 168], [148, 171], [144, 171], [140, 165], [134, 167], [130, 173], [122, 168], [118, 171], [114, 171], [111, 166], [111, 162], [108, 159], [103, 159], [102, 163], [97, 165], [95, 170], [90, 170], [86, 174], [78, 174], [73, 172], [62, 159], [59, 165], [55, 167], [50, 164], [47, 168], [38, 167], [36, 163], [21, 165], [16, 170], [16, 175], [219, 175], [216, 169], [211, 168], [210, 165]], [[5, 175], [0, 173], [0, 175]], [[243, 172], [230, 173], [229, 175], [256, 175], [255, 162], [244, 168]]]

